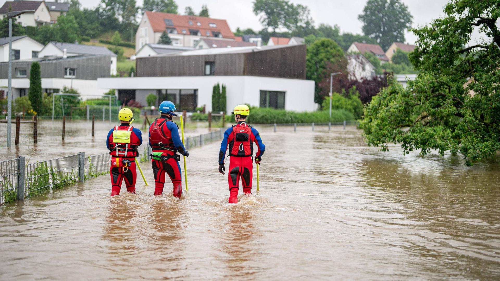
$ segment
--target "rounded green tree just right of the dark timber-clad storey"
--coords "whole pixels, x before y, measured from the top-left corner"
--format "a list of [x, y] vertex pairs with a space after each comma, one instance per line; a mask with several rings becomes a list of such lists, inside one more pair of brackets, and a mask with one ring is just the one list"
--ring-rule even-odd
[[[347, 59], [342, 49], [329, 38], [321, 38], [307, 46], [305, 76], [315, 82], [314, 101], [321, 104], [328, 94], [330, 73], [345, 74]], [[338, 76], [338, 75], [337, 75]], [[338, 78], [334, 76], [335, 78]], [[337, 83], [336, 83], [337, 84]], [[336, 88], [335, 90], [340, 90]]]

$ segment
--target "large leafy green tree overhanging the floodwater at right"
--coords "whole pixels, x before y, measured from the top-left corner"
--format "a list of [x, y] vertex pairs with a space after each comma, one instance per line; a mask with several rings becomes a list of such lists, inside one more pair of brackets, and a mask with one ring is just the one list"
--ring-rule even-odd
[[[445, 15], [413, 30], [410, 61], [419, 70], [403, 88], [395, 81], [365, 108], [366, 142], [405, 153], [460, 153], [465, 164], [500, 150], [500, 0], [453, 0]], [[471, 42], [474, 30], [483, 39]]]

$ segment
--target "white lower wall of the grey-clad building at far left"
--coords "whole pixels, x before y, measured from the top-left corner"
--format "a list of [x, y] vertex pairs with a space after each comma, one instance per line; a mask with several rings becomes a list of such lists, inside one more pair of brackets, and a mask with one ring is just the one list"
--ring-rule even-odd
[[[0, 86], [6, 86], [8, 79], [0, 79]], [[41, 88], [61, 89], [63, 86], [70, 87], [71, 79], [67, 78], [41, 78]], [[19, 96], [19, 88], [29, 88], [28, 78], [12, 78], [12, 97]], [[109, 88], [98, 88], [96, 80], [73, 79], [73, 88], [80, 94], [99, 95], [109, 91]], [[26, 92], [27, 93], [27, 92]]]

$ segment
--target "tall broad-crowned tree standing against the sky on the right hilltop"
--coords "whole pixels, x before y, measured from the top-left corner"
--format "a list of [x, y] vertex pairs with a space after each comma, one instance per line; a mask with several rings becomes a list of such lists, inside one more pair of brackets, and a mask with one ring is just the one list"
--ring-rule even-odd
[[404, 29], [411, 26], [413, 17], [400, 0], [368, 0], [358, 18], [363, 33], [386, 50], [392, 42], [404, 42]]

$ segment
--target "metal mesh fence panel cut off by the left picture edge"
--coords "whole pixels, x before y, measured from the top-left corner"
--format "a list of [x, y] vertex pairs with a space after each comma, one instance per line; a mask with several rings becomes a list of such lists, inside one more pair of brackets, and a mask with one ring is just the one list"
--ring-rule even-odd
[[18, 158], [0, 161], [0, 204], [17, 198], [18, 164]]

